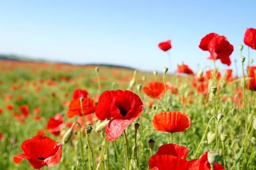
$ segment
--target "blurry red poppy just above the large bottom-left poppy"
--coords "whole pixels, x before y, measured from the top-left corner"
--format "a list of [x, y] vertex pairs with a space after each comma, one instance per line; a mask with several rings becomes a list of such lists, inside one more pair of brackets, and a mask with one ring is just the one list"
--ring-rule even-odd
[[51, 117], [47, 122], [46, 129], [55, 136], [60, 135], [61, 130], [65, 127], [63, 124], [63, 117], [58, 113], [55, 117]]

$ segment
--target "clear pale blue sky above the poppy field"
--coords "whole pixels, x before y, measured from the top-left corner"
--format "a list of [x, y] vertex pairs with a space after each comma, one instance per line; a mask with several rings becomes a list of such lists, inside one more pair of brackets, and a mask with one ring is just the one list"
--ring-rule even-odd
[[235, 48], [231, 59], [240, 60], [244, 32], [256, 28], [255, 8], [253, 0], [0, 1], [0, 53], [152, 71], [169, 65], [157, 44], [172, 39], [171, 70], [184, 61], [196, 71], [212, 67], [198, 48], [209, 32], [225, 35]]

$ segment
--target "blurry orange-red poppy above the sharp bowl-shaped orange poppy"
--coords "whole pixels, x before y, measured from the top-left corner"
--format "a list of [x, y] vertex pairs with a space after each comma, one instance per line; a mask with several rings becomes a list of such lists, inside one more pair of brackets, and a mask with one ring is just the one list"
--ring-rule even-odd
[[147, 86], [143, 87], [143, 92], [151, 98], [157, 98], [161, 100], [165, 90], [164, 83], [162, 82], [151, 82]]

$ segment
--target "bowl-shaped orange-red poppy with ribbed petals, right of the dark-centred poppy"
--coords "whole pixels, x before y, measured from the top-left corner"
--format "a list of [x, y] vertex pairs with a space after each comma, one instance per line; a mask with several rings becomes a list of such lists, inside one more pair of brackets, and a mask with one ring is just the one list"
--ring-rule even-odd
[[155, 115], [152, 124], [157, 131], [182, 132], [189, 128], [190, 118], [181, 111], [165, 111]]

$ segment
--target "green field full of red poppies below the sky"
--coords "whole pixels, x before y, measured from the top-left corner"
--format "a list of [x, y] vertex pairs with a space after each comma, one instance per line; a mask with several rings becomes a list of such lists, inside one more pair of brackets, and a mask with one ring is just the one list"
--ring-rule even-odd
[[[256, 49], [256, 29], [244, 44]], [[256, 66], [244, 46], [207, 34], [199, 48], [214, 67], [198, 73], [1, 60], [0, 169], [256, 169]], [[242, 76], [215, 67], [235, 51]]]

